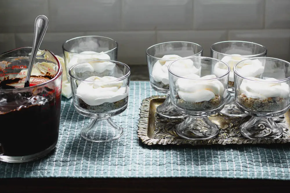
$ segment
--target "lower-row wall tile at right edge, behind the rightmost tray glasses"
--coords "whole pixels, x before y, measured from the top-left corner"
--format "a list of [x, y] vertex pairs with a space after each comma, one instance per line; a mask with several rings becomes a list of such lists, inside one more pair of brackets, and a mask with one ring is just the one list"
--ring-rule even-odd
[[259, 43], [267, 47], [267, 56], [290, 61], [290, 30], [230, 31], [229, 39]]

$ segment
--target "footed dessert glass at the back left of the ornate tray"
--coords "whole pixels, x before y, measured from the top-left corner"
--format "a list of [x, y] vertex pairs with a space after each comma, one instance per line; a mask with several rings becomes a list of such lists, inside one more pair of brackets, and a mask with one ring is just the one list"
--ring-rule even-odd
[[[168, 65], [177, 58], [202, 56], [202, 47], [191, 42], [165, 42], [149, 47], [146, 50], [151, 87], [161, 93], [168, 94], [166, 100], [157, 107], [159, 115], [167, 118], [182, 118], [186, 115], [176, 111], [169, 96]], [[200, 73], [194, 65], [180, 63], [182, 74]]]

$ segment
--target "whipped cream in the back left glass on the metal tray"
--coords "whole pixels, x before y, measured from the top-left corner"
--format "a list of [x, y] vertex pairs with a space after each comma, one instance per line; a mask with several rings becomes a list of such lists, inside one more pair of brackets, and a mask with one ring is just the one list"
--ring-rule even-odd
[[[162, 82], [163, 84], [169, 84], [168, 65], [174, 60], [182, 57], [178, 55], [164, 55], [162, 58], [167, 60], [157, 60], [157, 62], [153, 65], [153, 80], [155, 80], [156, 82]], [[173, 71], [178, 76], [185, 76], [192, 73], [200, 74], [200, 69], [197, 69], [193, 65], [193, 61], [191, 59], [184, 59], [174, 62], [171, 65], [171, 71]]]

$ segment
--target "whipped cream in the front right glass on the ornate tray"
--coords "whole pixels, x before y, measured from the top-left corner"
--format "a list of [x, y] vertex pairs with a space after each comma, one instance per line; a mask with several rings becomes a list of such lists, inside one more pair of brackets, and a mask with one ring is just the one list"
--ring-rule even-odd
[[271, 97], [289, 97], [290, 88], [285, 82], [272, 82], [277, 81], [275, 78], [260, 79], [255, 77], [247, 77], [247, 79], [242, 81], [240, 85], [240, 93], [246, 95], [248, 98], [259, 98], [264, 100]]

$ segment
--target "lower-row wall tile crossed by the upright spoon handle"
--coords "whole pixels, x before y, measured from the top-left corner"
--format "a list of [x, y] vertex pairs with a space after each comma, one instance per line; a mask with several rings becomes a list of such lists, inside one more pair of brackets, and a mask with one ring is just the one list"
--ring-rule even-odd
[[[48, 49], [54, 54], [63, 55], [62, 44], [71, 38], [84, 36], [84, 32], [49, 33], [47, 32], [40, 45], [40, 49]], [[16, 47], [32, 47], [33, 33], [21, 33], [15, 35]]]

